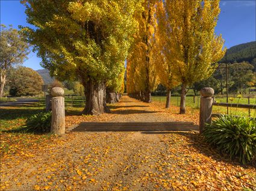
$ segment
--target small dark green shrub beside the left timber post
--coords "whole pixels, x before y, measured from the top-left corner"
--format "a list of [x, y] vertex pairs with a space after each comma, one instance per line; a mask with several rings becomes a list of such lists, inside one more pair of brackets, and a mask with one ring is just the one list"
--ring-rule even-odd
[[26, 132], [45, 133], [51, 130], [52, 112], [40, 112], [27, 119], [24, 129]]

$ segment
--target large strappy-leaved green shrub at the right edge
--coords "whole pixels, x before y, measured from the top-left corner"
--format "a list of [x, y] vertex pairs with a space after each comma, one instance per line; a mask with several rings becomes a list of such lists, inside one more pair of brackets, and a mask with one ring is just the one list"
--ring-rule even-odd
[[243, 164], [256, 159], [256, 121], [222, 115], [206, 124], [203, 136], [217, 150], [238, 157]]

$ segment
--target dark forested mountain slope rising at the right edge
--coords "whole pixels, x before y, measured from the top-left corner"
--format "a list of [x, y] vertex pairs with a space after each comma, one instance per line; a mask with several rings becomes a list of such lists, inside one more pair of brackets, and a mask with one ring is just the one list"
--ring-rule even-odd
[[251, 63], [254, 58], [256, 58], [256, 41], [230, 47], [226, 51], [226, 56], [224, 56], [219, 62], [234, 63], [248, 61]]

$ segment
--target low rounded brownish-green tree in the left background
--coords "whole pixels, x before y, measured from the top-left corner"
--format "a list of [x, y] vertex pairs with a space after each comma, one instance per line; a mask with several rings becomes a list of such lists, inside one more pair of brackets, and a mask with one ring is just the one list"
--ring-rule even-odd
[[31, 68], [17, 67], [8, 78], [11, 96], [36, 96], [40, 94], [43, 78]]

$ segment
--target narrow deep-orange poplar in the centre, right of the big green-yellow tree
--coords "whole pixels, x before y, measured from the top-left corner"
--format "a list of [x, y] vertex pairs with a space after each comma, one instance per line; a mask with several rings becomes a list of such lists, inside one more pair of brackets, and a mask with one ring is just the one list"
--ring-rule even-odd
[[155, 18], [155, 5], [157, 1], [144, 0], [142, 14], [137, 14], [139, 31], [134, 37], [133, 49], [129, 57], [129, 62], [134, 70], [136, 86], [133, 89], [144, 102], [151, 102], [151, 91], [158, 85], [157, 72], [155, 70], [155, 40], [157, 33], [157, 19]]

